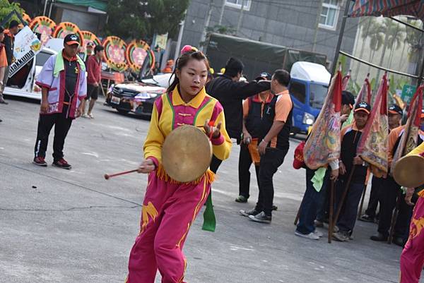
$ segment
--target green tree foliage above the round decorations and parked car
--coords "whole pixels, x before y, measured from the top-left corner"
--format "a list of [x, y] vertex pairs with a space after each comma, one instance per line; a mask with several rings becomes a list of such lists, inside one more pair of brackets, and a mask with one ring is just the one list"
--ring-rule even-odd
[[109, 0], [106, 32], [123, 39], [151, 40], [155, 33], [175, 37], [189, 0]]

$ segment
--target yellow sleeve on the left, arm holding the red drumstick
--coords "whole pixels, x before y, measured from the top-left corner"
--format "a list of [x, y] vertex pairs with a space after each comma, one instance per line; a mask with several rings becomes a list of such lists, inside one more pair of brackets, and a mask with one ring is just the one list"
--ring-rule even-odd
[[[151, 123], [148, 127], [146, 141], [144, 142], [144, 158], [153, 157], [153, 162], [158, 166], [162, 162], [162, 145], [165, 137], [159, 129], [158, 121], [158, 109], [156, 104], [153, 104], [153, 112], [151, 117]], [[155, 160], [156, 159], [156, 160]], [[156, 164], [158, 163], [158, 164]]]

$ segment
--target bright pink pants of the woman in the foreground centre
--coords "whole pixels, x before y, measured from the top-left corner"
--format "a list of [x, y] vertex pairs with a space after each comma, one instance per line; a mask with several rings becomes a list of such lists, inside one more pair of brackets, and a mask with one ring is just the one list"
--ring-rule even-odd
[[140, 234], [129, 255], [126, 283], [154, 283], [157, 270], [162, 283], [182, 283], [187, 261], [184, 241], [204, 205], [211, 184], [175, 184], [148, 176]]

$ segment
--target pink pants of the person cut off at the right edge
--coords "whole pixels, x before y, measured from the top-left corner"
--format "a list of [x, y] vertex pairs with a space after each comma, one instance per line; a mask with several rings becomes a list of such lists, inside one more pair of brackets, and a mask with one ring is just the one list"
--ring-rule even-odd
[[401, 255], [401, 283], [418, 283], [424, 267], [424, 198], [413, 210], [409, 239]]

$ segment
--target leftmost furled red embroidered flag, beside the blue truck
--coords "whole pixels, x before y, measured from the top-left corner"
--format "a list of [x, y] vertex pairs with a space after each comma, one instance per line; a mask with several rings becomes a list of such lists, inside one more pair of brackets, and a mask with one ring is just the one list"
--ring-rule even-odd
[[303, 157], [310, 169], [324, 167], [340, 156], [341, 71], [331, 79], [324, 106], [305, 143]]

